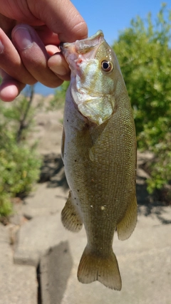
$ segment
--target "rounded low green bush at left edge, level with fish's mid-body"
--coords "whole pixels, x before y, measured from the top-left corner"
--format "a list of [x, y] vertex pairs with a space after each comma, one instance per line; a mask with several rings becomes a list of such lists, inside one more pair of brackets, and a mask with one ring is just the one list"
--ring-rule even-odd
[[26, 142], [17, 143], [11, 132], [1, 132], [0, 184], [5, 192], [12, 196], [28, 194], [38, 179], [40, 166], [35, 147], [28, 147]]

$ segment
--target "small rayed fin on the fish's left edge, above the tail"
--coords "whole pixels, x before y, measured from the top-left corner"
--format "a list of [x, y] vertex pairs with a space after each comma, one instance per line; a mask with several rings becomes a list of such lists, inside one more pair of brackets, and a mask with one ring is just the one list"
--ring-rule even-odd
[[73, 196], [71, 192], [69, 192], [66, 205], [61, 212], [61, 221], [66, 229], [73, 232], [80, 231], [83, 226], [81, 216], [78, 214], [76, 206], [74, 206]]

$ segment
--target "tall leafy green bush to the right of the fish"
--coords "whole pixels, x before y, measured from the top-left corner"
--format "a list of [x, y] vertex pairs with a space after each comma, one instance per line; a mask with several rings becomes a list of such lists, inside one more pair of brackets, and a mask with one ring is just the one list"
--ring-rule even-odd
[[152, 23], [138, 16], [120, 33], [117, 54], [133, 106], [138, 147], [150, 150], [148, 191], [171, 180], [171, 11], [162, 4]]

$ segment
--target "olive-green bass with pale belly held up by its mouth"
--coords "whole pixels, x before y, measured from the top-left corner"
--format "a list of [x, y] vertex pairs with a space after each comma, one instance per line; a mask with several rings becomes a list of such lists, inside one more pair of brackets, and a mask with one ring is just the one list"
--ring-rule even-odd
[[71, 69], [61, 143], [70, 190], [61, 221], [69, 231], [86, 229], [78, 281], [121, 290], [113, 236], [128, 239], [137, 223], [133, 110], [103, 31], [62, 43], [61, 53]]

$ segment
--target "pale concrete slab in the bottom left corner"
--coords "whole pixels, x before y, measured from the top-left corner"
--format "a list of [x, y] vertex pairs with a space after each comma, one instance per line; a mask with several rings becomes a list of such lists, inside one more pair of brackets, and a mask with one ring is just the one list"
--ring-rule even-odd
[[6, 227], [0, 225], [0, 304], [36, 304], [36, 268], [14, 265]]

